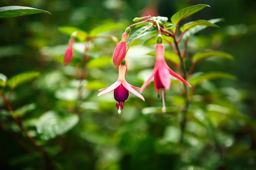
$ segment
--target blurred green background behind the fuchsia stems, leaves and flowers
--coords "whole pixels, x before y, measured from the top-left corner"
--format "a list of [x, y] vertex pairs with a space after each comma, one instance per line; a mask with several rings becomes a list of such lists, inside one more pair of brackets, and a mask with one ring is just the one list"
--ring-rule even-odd
[[[102, 33], [120, 40], [135, 17], [149, 12], [170, 19], [178, 10], [199, 3], [210, 8], [181, 24], [197, 19], [224, 21], [217, 23], [219, 29], [207, 28], [192, 37], [187, 56], [213, 49], [232, 54], [234, 60], [208, 59], [196, 65], [194, 72], [222, 71], [236, 75], [237, 80], [213, 80], [197, 87], [182, 144], [179, 122], [184, 100], [176, 80], [166, 92], [167, 113], [159, 112], [162, 103], [150, 83], [142, 94], [146, 101], [130, 94], [119, 115], [113, 93], [97, 97], [99, 88], [117, 79], [117, 68], [110, 60], [108, 65], [91, 66], [82, 81], [76, 67], [57, 62], [69, 40], [58, 27], [89, 32], [101, 24], [121, 23], [121, 28]], [[11, 5], [52, 14], [0, 19], [0, 73], [11, 78], [26, 71], [40, 72], [38, 78], [15, 89], [10, 103], [14, 109], [25, 107], [23, 124], [47, 152], [53, 169], [256, 169], [256, 1], [0, 2], [1, 7]], [[126, 80], [137, 87], [151, 73], [155, 60], [146, 55], [154, 51], [154, 45], [143, 46], [141, 42], [135, 41], [127, 53]], [[114, 47], [111, 40], [96, 40], [90, 59], [110, 57]], [[81, 54], [75, 52], [75, 56]], [[77, 101], [79, 87], [83, 91]], [[8, 114], [0, 101], [0, 169], [46, 169], [44, 159]]]

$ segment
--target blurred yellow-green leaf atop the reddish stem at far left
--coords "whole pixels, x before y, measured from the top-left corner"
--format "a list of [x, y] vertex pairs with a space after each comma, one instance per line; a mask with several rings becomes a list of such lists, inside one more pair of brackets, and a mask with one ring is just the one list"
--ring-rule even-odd
[[27, 82], [29, 80], [32, 80], [40, 75], [39, 72], [27, 72], [27, 73], [20, 73], [17, 75], [14, 75], [12, 78], [8, 80], [8, 85], [13, 89], [16, 86], [18, 86], [21, 83]]

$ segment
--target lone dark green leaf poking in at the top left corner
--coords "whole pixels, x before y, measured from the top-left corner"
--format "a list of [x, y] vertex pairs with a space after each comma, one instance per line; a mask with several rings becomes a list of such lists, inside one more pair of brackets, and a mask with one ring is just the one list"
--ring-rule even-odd
[[36, 8], [26, 7], [26, 6], [5, 6], [0, 7], [0, 18], [14, 17], [20, 15], [31, 15], [37, 13], [51, 14], [45, 10], [39, 10]]

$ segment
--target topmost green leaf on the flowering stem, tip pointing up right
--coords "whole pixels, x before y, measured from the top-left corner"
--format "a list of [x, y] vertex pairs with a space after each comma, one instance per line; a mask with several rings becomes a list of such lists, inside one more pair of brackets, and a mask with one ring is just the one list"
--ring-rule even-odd
[[199, 4], [199, 5], [194, 5], [191, 7], [187, 7], [184, 8], [178, 12], [176, 12], [176, 14], [172, 15], [171, 17], [171, 22], [175, 25], [179, 24], [180, 20], [194, 14], [197, 11], [202, 10], [204, 7], [210, 7], [209, 5], [204, 5], [204, 4]]

